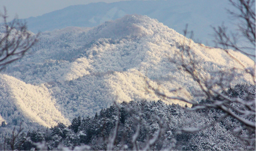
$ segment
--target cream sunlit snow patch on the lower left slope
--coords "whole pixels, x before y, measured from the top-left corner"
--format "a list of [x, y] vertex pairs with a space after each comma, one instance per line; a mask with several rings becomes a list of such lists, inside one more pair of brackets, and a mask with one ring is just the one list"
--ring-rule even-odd
[[[35, 86], [26, 84], [6, 74], [0, 75], [1, 82], [7, 87], [9, 94], [6, 101], [12, 101], [16, 108], [22, 114], [30, 119], [31, 122], [37, 122], [45, 127], [52, 127], [59, 122], [68, 124], [60, 111], [55, 108], [55, 100], [51, 97], [44, 85]], [[1, 110], [4, 110], [2, 106]], [[4, 117], [9, 122], [11, 117]]]

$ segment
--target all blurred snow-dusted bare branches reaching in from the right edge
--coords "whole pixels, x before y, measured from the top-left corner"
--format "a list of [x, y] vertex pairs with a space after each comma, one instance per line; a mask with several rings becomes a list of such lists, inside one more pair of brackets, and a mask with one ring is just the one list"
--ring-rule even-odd
[[[233, 0], [230, 0], [231, 4], [241, 11], [242, 19], [245, 19], [248, 23], [248, 29], [244, 28], [244, 30], [247, 32], [247, 34], [244, 34], [246, 39], [252, 42], [253, 47], [255, 48], [255, 10], [252, 10], [252, 6], [255, 6], [255, 0], [239, 0], [237, 2], [234, 2]], [[253, 4], [253, 5], [252, 5]], [[243, 11], [245, 10], [245, 11]], [[251, 12], [252, 11], [252, 12]], [[250, 19], [245, 18], [246, 15], [244, 12], [249, 12], [249, 16], [251, 17], [254, 22], [250, 22]], [[254, 14], [254, 16], [253, 16]], [[250, 24], [251, 23], [251, 24]], [[254, 27], [254, 28], [251, 28]], [[168, 96], [165, 93], [162, 93], [158, 91], [157, 89], [154, 89], [148, 82], [149, 87], [155, 92], [155, 94], [162, 96], [164, 98], [169, 99], [178, 99], [182, 100], [186, 103], [190, 103], [193, 105], [193, 108], [189, 110], [201, 110], [206, 108], [216, 108], [224, 112], [224, 115], [217, 119], [216, 121], [205, 125], [201, 128], [183, 128], [180, 129], [182, 131], [186, 132], [197, 132], [199, 130], [205, 129], [209, 126], [214, 125], [215, 123], [225, 119], [228, 116], [231, 116], [234, 119], [237, 119], [239, 122], [242, 123], [242, 130], [241, 131], [248, 131], [245, 134], [237, 135], [240, 139], [244, 141], [249, 141], [249, 143], [254, 142], [254, 139], [250, 139], [253, 136], [255, 136], [255, 97], [249, 98], [249, 100], [243, 100], [239, 97], [232, 98], [228, 94], [228, 89], [231, 86], [231, 83], [233, 83], [234, 80], [239, 78], [238, 75], [242, 75], [242, 73], [247, 74], [249, 73], [251, 75], [251, 78], [253, 79], [253, 82], [255, 84], [255, 66], [254, 67], [246, 67], [246, 65], [242, 64], [242, 61], [237, 59], [234, 55], [232, 55], [228, 48], [232, 47], [235, 49], [235, 51], [239, 51], [243, 54], [246, 54], [250, 57], [255, 57], [255, 55], [250, 55], [248, 53], [244, 53], [226, 34], [226, 28], [223, 26], [219, 29], [215, 29], [216, 36], [218, 41], [217, 43], [224, 46], [223, 51], [226, 52], [226, 54], [230, 57], [231, 60], [237, 62], [238, 65], [241, 65], [241, 67], [233, 67], [230, 68], [228, 71], [225, 70], [219, 70], [215, 71], [216, 75], [204, 75], [202, 74], [202, 71], [205, 71], [204, 68], [202, 68], [199, 65], [199, 61], [196, 59], [196, 54], [194, 54], [194, 51], [191, 46], [191, 40], [188, 40], [184, 37], [184, 42], [179, 45], [179, 51], [176, 51], [174, 58], [170, 61], [174, 64], [176, 64], [178, 69], [182, 69], [186, 71], [186, 73], [191, 75], [191, 78], [196, 82], [197, 86], [199, 86], [200, 91], [198, 96], [203, 96], [205, 99], [207, 99], [208, 103], [197, 103], [195, 100], [188, 100], [185, 99], [182, 96]], [[184, 35], [187, 34], [187, 26], [184, 30]], [[236, 42], [236, 40], [235, 40]], [[202, 46], [203, 48], [210, 49], [210, 47]], [[255, 65], [255, 61], [254, 61]], [[228, 74], [227, 74], [228, 73]], [[177, 90], [180, 90], [176, 89]], [[253, 96], [252, 96], [253, 97]], [[254, 119], [254, 120], [253, 120]], [[241, 132], [240, 131], [240, 132]], [[248, 134], [248, 136], [247, 136]], [[253, 146], [252, 146], [253, 147]], [[254, 145], [255, 148], [255, 145]]]

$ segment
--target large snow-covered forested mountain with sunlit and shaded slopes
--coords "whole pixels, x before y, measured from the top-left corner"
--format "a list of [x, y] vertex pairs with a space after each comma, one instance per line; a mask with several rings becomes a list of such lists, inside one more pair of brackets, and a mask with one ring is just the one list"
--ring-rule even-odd
[[[199, 89], [173, 59], [179, 47], [190, 45], [202, 76], [216, 75], [241, 65], [221, 49], [206, 48], [186, 39], [155, 19], [126, 15], [89, 28], [64, 28], [43, 32], [29, 54], [10, 65], [0, 76], [0, 120], [18, 119], [51, 127], [69, 123], [74, 116], [88, 116], [113, 103], [131, 100], [158, 100], [166, 104], [184, 102], [161, 98], [151, 86], [168, 95], [188, 99]], [[244, 66], [254, 66], [247, 56], [231, 54]], [[239, 71], [240, 72], [240, 71]], [[248, 74], [231, 83], [251, 83]]]

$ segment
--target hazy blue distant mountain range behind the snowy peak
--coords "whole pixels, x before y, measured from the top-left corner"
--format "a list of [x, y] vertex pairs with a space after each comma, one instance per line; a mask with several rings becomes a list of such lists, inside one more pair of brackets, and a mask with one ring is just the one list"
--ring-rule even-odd
[[105, 21], [121, 18], [126, 14], [147, 15], [181, 34], [188, 23], [188, 30], [194, 31], [195, 40], [213, 45], [213, 37], [209, 35], [213, 33], [213, 29], [210, 26], [217, 27], [225, 22], [230, 30], [236, 29], [236, 26], [230, 22], [225, 8], [230, 8], [228, 1], [100, 2], [69, 6], [42, 16], [27, 18], [26, 21], [28, 22], [28, 29], [36, 33], [70, 26], [95, 27]]

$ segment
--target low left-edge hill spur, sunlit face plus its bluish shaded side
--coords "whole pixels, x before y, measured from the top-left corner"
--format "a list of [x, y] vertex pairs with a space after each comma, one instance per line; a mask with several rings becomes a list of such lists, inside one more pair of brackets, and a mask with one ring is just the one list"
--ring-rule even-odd
[[6, 122], [25, 120], [25, 122], [37, 122], [45, 127], [51, 127], [58, 122], [69, 123], [54, 107], [54, 99], [44, 85], [26, 84], [5, 74], [1, 75], [0, 79], [2, 90], [4, 90], [1, 99], [1, 115]]

